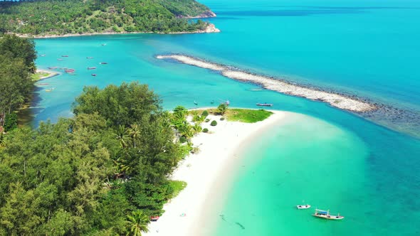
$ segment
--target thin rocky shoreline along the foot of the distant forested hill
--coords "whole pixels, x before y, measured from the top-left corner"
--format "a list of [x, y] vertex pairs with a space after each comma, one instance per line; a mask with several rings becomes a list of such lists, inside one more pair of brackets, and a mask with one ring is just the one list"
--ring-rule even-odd
[[[156, 33], [156, 34], [192, 34], [192, 33], [219, 33], [221, 32], [219, 28], [216, 28], [213, 23], [209, 23], [209, 25], [200, 31], [181, 31], [181, 32], [169, 32], [169, 33]], [[31, 34], [23, 34], [23, 33], [16, 33], [16, 36], [21, 38], [69, 38], [69, 37], [80, 37], [80, 36], [108, 36], [108, 35], [124, 35], [124, 34], [143, 34], [143, 33], [154, 33], [154, 32], [101, 32], [101, 33], [67, 33], [63, 35], [47, 35], [47, 36], [33, 36]]]

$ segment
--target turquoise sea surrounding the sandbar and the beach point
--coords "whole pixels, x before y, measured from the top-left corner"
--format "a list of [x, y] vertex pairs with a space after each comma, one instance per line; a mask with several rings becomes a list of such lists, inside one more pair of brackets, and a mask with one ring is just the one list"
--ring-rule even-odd
[[[209, 216], [217, 224], [208, 235], [420, 235], [420, 2], [202, 2], [218, 14], [209, 21], [221, 33], [36, 40], [46, 54], [38, 68], [75, 68], [77, 75], [42, 81], [48, 85], [35, 92], [33, 124], [70, 117], [85, 85], [134, 80], [161, 95], [166, 109], [191, 108], [194, 100], [203, 107], [211, 100], [251, 108], [271, 102], [300, 114], [246, 150], [224, 203]], [[164, 53], [349, 92], [404, 112], [372, 117], [379, 126], [321, 102], [154, 58]], [[58, 61], [61, 55], [68, 58]], [[312, 209], [295, 210], [303, 201], [346, 218], [313, 218]]]

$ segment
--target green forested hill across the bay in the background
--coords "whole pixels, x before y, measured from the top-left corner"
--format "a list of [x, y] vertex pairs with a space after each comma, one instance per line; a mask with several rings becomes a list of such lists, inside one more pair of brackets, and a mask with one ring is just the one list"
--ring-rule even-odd
[[195, 0], [0, 1], [0, 33], [51, 36], [83, 33], [203, 31], [215, 16]]

